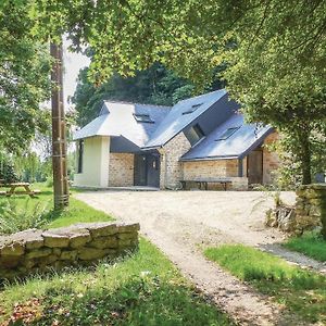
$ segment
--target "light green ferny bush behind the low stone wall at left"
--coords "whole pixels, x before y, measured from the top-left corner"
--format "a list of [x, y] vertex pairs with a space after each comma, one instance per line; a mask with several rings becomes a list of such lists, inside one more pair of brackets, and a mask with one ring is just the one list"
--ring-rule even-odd
[[48, 223], [46, 205], [37, 202], [32, 209], [29, 199], [18, 208], [15, 200], [0, 201], [0, 235], [14, 234], [28, 228], [41, 228]]

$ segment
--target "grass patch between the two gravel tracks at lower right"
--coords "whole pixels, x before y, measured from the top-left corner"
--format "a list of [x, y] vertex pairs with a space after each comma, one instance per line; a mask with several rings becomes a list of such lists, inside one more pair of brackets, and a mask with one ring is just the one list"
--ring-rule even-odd
[[260, 292], [271, 296], [303, 322], [326, 323], [325, 276], [241, 244], [209, 248], [204, 254]]

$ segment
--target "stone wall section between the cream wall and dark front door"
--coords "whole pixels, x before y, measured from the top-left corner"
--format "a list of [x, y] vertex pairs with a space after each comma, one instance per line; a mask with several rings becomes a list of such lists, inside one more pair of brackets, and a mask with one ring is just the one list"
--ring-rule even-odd
[[134, 186], [134, 154], [110, 153], [109, 187]]

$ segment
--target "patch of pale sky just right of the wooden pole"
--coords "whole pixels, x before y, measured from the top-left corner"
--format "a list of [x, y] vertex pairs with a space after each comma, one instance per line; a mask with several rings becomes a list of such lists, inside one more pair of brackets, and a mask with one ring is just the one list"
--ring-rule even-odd
[[80, 53], [73, 53], [67, 50], [70, 45], [68, 40], [63, 41], [63, 62], [64, 62], [64, 76], [63, 76], [63, 95], [64, 95], [64, 108], [68, 110], [70, 104], [67, 98], [72, 97], [75, 92], [77, 85], [77, 77], [79, 70], [88, 66], [90, 63], [89, 58]]

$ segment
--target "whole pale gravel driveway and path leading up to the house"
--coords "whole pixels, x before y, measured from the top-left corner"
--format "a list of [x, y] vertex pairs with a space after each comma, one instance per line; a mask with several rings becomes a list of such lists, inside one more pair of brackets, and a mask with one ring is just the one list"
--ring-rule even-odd
[[[292, 192], [281, 196], [288, 203], [294, 201]], [[97, 191], [76, 198], [122, 222], [139, 222], [142, 235], [241, 325], [300, 325], [201, 253], [202, 247], [240, 242], [267, 251], [277, 249], [287, 256], [288, 251], [277, 246], [284, 235], [264, 227], [264, 212], [273, 205], [265, 192]], [[301, 264], [300, 256], [297, 263]], [[311, 261], [302, 263], [312, 265]]]

